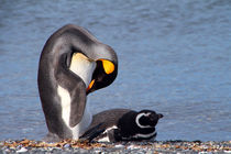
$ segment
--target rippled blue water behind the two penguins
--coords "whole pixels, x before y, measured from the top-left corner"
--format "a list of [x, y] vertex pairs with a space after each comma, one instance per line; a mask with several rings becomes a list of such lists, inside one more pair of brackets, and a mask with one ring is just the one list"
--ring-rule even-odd
[[231, 140], [231, 1], [1, 0], [0, 140], [47, 132], [36, 85], [41, 51], [66, 23], [119, 56], [119, 75], [89, 96], [94, 113], [152, 109], [157, 140]]

